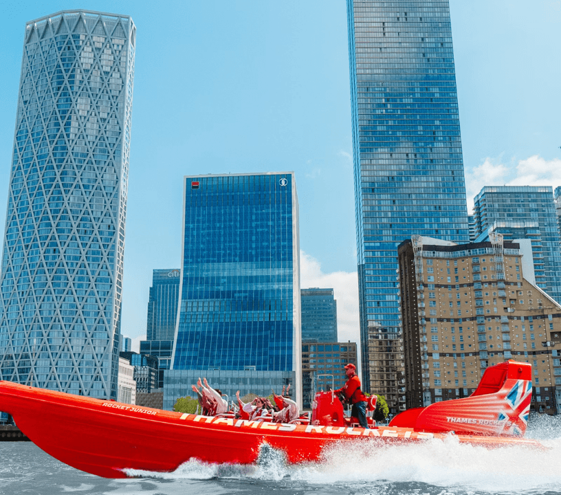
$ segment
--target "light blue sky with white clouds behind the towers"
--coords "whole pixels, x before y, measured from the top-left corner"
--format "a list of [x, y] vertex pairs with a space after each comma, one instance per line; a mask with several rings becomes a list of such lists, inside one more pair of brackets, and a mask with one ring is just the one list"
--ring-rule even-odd
[[[182, 177], [294, 170], [301, 285], [359, 339], [344, 0], [19, 1], [0, 17], [0, 223], [26, 21], [84, 8], [137, 26], [121, 332], [179, 268]], [[483, 186], [561, 185], [561, 0], [450, 0], [468, 210]], [[413, 232], [412, 232], [413, 233]]]

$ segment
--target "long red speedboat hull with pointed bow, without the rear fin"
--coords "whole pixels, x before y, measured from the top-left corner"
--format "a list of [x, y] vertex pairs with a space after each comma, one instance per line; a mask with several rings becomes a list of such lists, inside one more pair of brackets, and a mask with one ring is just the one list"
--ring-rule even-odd
[[[318, 461], [344, 441], [422, 441], [445, 434], [412, 428], [346, 428], [245, 421], [186, 415], [115, 401], [79, 397], [0, 382], [0, 410], [39, 448], [79, 470], [123, 478], [126, 470], [171, 472], [190, 459], [208, 463], [254, 463], [263, 443], [285, 452], [288, 463]], [[510, 437], [457, 435], [489, 447], [533, 445]]]

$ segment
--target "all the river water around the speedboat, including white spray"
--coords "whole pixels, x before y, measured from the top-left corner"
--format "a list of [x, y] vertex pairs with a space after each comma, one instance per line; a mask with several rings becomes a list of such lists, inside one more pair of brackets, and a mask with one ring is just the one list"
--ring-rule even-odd
[[0, 494], [94, 495], [561, 495], [561, 416], [530, 423], [527, 437], [547, 448], [487, 450], [444, 441], [349, 445], [321, 463], [285, 466], [265, 452], [256, 466], [189, 462], [173, 473], [130, 472], [109, 480], [75, 470], [30, 442], [0, 443]]

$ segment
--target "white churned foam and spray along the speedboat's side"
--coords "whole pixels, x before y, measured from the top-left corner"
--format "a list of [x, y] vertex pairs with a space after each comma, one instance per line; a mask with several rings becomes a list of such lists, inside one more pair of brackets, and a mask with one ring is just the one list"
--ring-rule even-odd
[[[382, 441], [340, 443], [318, 463], [286, 465], [284, 455], [265, 446], [256, 465], [188, 461], [168, 474], [128, 470], [153, 478], [245, 478], [303, 485], [372, 486], [424, 483], [454, 492], [561, 493], [561, 428], [555, 421], [529, 431], [546, 449], [511, 446], [487, 449], [444, 440], [388, 445]], [[422, 491], [422, 490], [421, 490]]]

